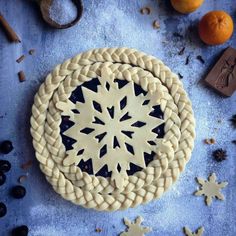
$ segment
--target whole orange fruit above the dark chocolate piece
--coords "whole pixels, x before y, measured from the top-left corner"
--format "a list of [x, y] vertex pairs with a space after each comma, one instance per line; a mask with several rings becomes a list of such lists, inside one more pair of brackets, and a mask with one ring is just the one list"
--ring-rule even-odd
[[209, 45], [225, 43], [232, 35], [234, 23], [230, 15], [224, 11], [210, 11], [202, 17], [199, 26], [199, 36]]

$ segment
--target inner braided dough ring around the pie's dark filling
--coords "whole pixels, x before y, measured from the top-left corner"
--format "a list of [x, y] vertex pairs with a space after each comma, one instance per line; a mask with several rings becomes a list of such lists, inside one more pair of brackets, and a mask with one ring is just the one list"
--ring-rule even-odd
[[[159, 178], [162, 172], [164, 172], [168, 167], [168, 161], [173, 159], [173, 148], [174, 150], [178, 147], [178, 140], [180, 138], [180, 119], [178, 118], [176, 112], [177, 107], [174, 106], [174, 102], [171, 96], [168, 94], [168, 90], [163, 88], [164, 96], [161, 98], [162, 110], [164, 111], [164, 120], [166, 123], [166, 136], [170, 137], [168, 140], [168, 146], [171, 149], [168, 153], [160, 152], [158, 158], [150, 162], [148, 167], [143, 171], [136, 172], [134, 175], [129, 176], [129, 179], [125, 181], [122, 189], [116, 189], [113, 181], [109, 181], [110, 178], [90, 176], [86, 172], [82, 172], [75, 165], [65, 167], [62, 162], [65, 159], [64, 145], [62, 144], [62, 139], [60, 135], [54, 135], [55, 133], [60, 133], [60, 123], [61, 123], [61, 112], [55, 107], [55, 104], [59, 101], [66, 101], [71, 92], [81, 84], [81, 79], [83, 81], [89, 81], [92, 78], [88, 75], [93, 75], [93, 77], [100, 76], [100, 70], [104, 66], [104, 63], [96, 63], [91, 66], [86, 66], [86, 73], [83, 70], [78, 69], [73, 72], [73, 75], [68, 76], [59, 86], [53, 94], [53, 97], [49, 103], [49, 111], [47, 113], [47, 120], [50, 120], [50, 125], [48, 122], [45, 124], [45, 137], [48, 144], [48, 150], [51, 152], [52, 159], [58, 164], [58, 168], [65, 174], [66, 178], [71, 180], [71, 182], [87, 191], [94, 191], [99, 193], [118, 193], [130, 191], [136, 191], [140, 189], [143, 185], [149, 185], [153, 180]], [[133, 80], [139, 77], [136, 81], [140, 84], [140, 81], [146, 80], [144, 90], [148, 90], [149, 87], [158, 88], [161, 87], [159, 80], [154, 78], [151, 73], [143, 71], [141, 68], [133, 68], [129, 65], [122, 64], [110, 64], [109, 67], [112, 73], [118, 79], [129, 79]], [[142, 75], [143, 74], [143, 75]], [[133, 76], [134, 75], [134, 76]], [[172, 109], [170, 109], [172, 108]], [[175, 112], [175, 114], [173, 114]], [[173, 117], [175, 117], [174, 124]], [[55, 138], [54, 138], [55, 136]], [[172, 148], [173, 147], [173, 148]], [[61, 149], [61, 150], [59, 150]], [[60, 156], [61, 155], [61, 156]], [[167, 161], [168, 160], [168, 161]]]

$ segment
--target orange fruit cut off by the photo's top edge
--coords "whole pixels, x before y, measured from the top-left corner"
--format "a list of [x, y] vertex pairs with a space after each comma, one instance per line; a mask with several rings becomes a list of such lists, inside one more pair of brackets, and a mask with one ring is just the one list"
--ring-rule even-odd
[[171, 0], [174, 9], [183, 14], [196, 11], [203, 2], [204, 0]]

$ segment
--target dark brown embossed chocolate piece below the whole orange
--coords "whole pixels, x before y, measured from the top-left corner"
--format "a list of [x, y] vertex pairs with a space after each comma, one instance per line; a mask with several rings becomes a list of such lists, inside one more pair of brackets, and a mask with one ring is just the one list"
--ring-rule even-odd
[[236, 49], [228, 47], [205, 78], [220, 94], [230, 97], [236, 90]]

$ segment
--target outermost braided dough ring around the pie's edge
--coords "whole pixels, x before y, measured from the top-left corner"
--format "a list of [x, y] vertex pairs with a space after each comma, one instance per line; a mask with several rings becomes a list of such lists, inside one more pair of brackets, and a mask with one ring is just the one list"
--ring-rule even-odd
[[[51, 158], [48, 158], [49, 152], [44, 137], [46, 111], [49, 105], [48, 101], [54, 91], [58, 89], [61, 81], [63, 81], [67, 75], [70, 75], [72, 71], [78, 69], [80, 66], [90, 65], [96, 62], [126, 63], [141, 67], [152, 73], [154, 77], [159, 78], [162, 84], [168, 88], [169, 93], [178, 107], [181, 120], [179, 148], [175, 152], [174, 160], [170, 163], [167, 171], [162, 173], [160, 178], [154, 180], [150, 185], [143, 186], [134, 192], [121, 193], [115, 197], [112, 195], [91, 193], [74, 186], [71, 181], [66, 179], [64, 174], [61, 173], [56, 163]], [[41, 170], [45, 173], [47, 180], [52, 184], [55, 191], [75, 204], [107, 211], [134, 207], [141, 203], [148, 202], [153, 198], [159, 198], [178, 178], [179, 173], [183, 171], [186, 162], [190, 158], [195, 137], [194, 126], [195, 122], [191, 103], [177, 75], [173, 74], [160, 60], [128, 48], [92, 50], [57, 66], [55, 70], [47, 76], [45, 83], [41, 85], [38, 93], [35, 95], [31, 117], [31, 134], [33, 136], [36, 157], [40, 162]]]

